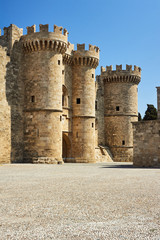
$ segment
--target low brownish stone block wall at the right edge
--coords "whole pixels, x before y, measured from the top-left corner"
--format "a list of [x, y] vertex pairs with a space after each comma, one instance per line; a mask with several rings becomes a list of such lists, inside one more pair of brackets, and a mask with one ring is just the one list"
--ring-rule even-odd
[[133, 123], [133, 164], [160, 167], [160, 120]]

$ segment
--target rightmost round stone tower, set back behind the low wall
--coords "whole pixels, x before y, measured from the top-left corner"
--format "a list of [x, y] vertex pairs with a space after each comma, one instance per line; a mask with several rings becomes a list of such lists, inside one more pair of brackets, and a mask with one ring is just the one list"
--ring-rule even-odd
[[132, 161], [132, 122], [138, 121], [137, 86], [141, 68], [126, 65], [107, 66], [101, 69], [104, 81], [105, 144], [110, 147], [114, 161]]

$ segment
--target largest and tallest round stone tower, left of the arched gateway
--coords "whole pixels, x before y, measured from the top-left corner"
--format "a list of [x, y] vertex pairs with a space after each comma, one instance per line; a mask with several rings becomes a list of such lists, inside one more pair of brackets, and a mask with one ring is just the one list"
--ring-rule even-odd
[[34, 163], [62, 161], [62, 54], [67, 30], [48, 24], [27, 27], [21, 38], [24, 50], [24, 160]]

